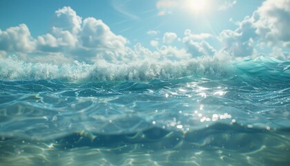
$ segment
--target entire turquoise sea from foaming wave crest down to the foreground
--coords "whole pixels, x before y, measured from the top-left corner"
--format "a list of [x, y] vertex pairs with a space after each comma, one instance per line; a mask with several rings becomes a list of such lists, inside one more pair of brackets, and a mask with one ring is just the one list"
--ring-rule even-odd
[[0, 61], [1, 165], [289, 165], [290, 62]]

